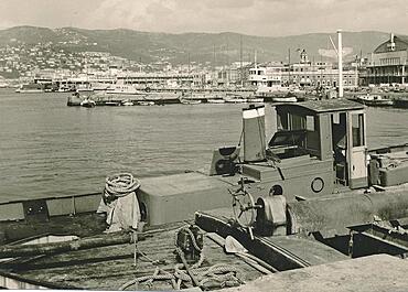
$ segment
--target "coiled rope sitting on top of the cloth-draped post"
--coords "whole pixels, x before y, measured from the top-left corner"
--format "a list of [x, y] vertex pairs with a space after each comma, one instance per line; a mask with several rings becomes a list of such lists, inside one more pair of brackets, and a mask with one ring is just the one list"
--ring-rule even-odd
[[106, 177], [104, 190], [104, 202], [109, 204], [118, 197], [124, 197], [140, 187], [139, 180], [131, 173], [119, 173]]

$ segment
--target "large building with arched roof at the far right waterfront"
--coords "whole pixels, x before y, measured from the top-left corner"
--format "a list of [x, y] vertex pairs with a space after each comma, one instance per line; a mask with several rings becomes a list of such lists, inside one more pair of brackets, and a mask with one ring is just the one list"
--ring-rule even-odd
[[364, 84], [405, 84], [408, 80], [408, 37], [390, 34], [371, 54]]

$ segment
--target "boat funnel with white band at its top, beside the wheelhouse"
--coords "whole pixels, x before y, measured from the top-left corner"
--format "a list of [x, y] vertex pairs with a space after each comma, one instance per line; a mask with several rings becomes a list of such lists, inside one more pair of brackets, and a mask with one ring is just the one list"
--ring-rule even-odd
[[243, 109], [244, 161], [266, 160], [265, 106], [250, 105]]

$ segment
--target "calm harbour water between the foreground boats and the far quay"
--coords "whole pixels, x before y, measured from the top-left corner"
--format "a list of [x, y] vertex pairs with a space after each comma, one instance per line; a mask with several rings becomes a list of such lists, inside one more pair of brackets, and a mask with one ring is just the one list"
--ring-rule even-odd
[[[241, 131], [243, 105], [87, 109], [66, 98], [0, 90], [0, 195], [99, 192], [122, 171], [206, 170], [213, 149], [236, 144]], [[408, 142], [408, 110], [367, 111], [369, 148]], [[272, 123], [269, 113], [267, 130]]]

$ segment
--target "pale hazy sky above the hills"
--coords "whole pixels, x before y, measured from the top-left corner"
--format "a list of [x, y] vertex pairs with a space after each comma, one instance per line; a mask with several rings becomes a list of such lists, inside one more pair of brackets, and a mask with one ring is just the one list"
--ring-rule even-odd
[[0, 0], [0, 28], [126, 28], [287, 35], [378, 30], [408, 34], [407, 0]]

